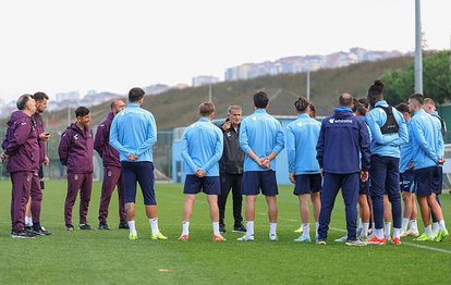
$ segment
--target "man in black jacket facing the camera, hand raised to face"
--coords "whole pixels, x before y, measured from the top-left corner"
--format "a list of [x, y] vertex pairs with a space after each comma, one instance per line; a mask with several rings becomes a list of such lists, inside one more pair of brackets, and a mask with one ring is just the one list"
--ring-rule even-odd
[[239, 142], [240, 124], [243, 111], [240, 106], [230, 106], [227, 110], [227, 114], [228, 119], [220, 125], [222, 134], [224, 135], [224, 149], [222, 158], [219, 161], [221, 178], [221, 195], [218, 198], [219, 230], [220, 232], [226, 233], [226, 202], [230, 189], [232, 189], [233, 232], [246, 232], [246, 228], [242, 223], [243, 216], [241, 215], [243, 202], [243, 197], [241, 196], [241, 182], [243, 178], [244, 152], [241, 150]]

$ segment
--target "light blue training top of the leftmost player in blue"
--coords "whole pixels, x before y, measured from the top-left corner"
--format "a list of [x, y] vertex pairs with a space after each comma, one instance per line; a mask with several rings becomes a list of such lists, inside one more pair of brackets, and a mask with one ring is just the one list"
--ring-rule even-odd
[[121, 161], [131, 161], [126, 154], [138, 157], [136, 162], [154, 161], [153, 147], [157, 142], [154, 115], [137, 103], [130, 103], [119, 112], [110, 129], [110, 145], [119, 151]]

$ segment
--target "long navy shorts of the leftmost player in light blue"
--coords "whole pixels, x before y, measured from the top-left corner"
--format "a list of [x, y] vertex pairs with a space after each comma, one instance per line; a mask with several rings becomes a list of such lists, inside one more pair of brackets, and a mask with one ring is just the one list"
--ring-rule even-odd
[[155, 198], [154, 163], [149, 161], [121, 161], [124, 183], [124, 202], [136, 201], [136, 182], [143, 191], [144, 205], [157, 205]]

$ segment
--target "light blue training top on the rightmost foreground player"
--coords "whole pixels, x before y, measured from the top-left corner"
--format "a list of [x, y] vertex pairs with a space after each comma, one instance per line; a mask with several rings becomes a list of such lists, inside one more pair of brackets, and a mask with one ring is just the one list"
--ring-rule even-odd
[[410, 125], [415, 169], [438, 165], [438, 159], [442, 157], [443, 138], [437, 121], [419, 109], [411, 119]]

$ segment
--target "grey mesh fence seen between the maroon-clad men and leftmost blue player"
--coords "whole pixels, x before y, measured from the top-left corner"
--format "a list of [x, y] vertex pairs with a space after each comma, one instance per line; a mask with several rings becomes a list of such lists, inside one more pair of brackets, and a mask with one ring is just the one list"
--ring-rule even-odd
[[[58, 146], [63, 131], [46, 129], [50, 133], [50, 139], [47, 144], [47, 156], [50, 159], [50, 165], [45, 166], [46, 178], [63, 178], [65, 177], [65, 166], [60, 163], [58, 157]], [[1, 141], [4, 138], [5, 129], [0, 131]], [[93, 129], [96, 134], [96, 129]], [[172, 132], [158, 132], [158, 140], [154, 147], [154, 165], [157, 170], [162, 172], [166, 176], [171, 176], [172, 171]], [[99, 181], [103, 175], [103, 168], [101, 159], [96, 151], [94, 151], [94, 179]], [[7, 165], [0, 164], [0, 179], [8, 179]]]

